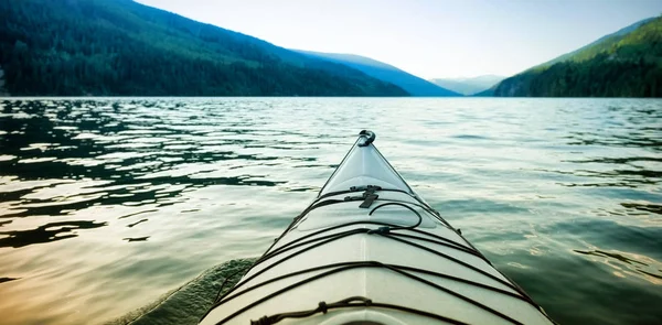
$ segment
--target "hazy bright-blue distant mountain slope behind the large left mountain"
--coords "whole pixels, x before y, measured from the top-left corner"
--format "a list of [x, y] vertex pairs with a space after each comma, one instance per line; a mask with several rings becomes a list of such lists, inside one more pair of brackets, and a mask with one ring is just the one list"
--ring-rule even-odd
[[355, 68], [371, 77], [394, 84], [412, 94], [412, 96], [460, 96], [460, 94], [441, 88], [395, 66], [370, 57], [354, 54], [320, 53], [301, 50], [292, 51], [308, 55], [309, 57], [321, 58]]

